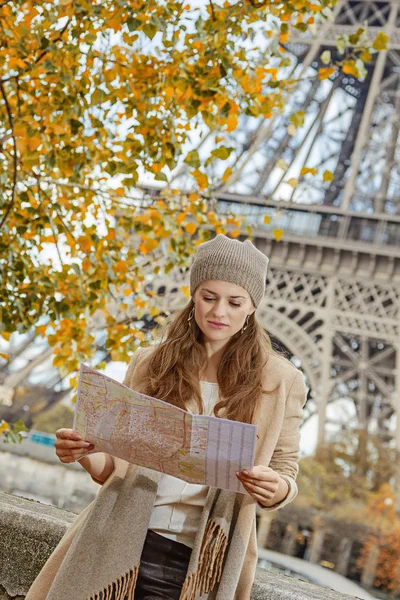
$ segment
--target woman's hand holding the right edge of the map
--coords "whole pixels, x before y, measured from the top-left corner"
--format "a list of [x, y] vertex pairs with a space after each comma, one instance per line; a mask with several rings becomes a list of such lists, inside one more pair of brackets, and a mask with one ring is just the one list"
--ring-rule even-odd
[[288, 492], [288, 485], [279, 473], [264, 465], [238, 471], [236, 477], [250, 496], [264, 506], [280, 502]]

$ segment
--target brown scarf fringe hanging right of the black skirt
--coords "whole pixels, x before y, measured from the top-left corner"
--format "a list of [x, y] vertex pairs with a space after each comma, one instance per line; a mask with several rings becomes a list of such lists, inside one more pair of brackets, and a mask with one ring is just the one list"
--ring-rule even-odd
[[204, 533], [198, 569], [185, 579], [179, 600], [196, 600], [197, 594], [208, 593], [214, 588], [221, 578], [227, 544], [221, 525], [210, 519]]

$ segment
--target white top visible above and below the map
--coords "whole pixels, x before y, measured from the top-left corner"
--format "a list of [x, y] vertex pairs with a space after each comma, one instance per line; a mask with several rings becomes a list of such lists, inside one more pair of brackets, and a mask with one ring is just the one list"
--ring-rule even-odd
[[[200, 381], [204, 414], [213, 415], [218, 400], [218, 383]], [[188, 412], [193, 413], [190, 408]], [[193, 548], [208, 486], [186, 483], [172, 475], [161, 475], [149, 529]]]

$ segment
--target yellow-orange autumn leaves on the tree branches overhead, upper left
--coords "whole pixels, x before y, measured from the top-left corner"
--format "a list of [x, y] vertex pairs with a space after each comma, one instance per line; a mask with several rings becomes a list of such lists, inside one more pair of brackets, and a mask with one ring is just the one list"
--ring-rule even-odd
[[[211, 230], [241, 233], [242, 219], [218, 215], [213, 193], [229, 182], [219, 167], [232, 153], [227, 136], [243, 115], [282, 110], [299, 83], [284, 44], [335, 3], [0, 4], [5, 340], [34, 328], [62, 374], [93, 356], [100, 330], [113, 360], [129, 358], [144, 339], [140, 319], [163, 320], [148, 276], [186, 269]], [[384, 37], [374, 44], [367, 51], [361, 33], [350, 36], [340, 64], [325, 56], [319, 76], [350, 67], [361, 76]], [[293, 115], [292, 135], [303, 122]], [[182, 168], [187, 193], [174, 187]], [[164, 188], [146, 192], [140, 181]]]

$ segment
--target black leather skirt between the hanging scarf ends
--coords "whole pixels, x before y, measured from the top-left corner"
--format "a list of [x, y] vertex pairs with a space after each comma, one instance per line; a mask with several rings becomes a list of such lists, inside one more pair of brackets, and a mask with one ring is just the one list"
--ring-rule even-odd
[[135, 600], [179, 600], [192, 549], [149, 529], [140, 558]]

